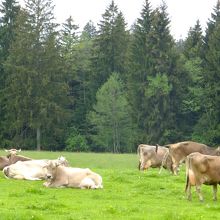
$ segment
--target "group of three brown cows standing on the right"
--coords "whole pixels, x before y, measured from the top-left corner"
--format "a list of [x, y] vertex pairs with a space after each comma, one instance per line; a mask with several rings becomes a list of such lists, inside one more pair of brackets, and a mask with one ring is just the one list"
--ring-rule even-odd
[[179, 166], [186, 163], [186, 194], [191, 200], [191, 186], [195, 186], [199, 200], [203, 201], [201, 185], [213, 186], [213, 199], [217, 200], [217, 185], [220, 184], [220, 147], [208, 147], [193, 141], [179, 142], [166, 146], [140, 144], [137, 148], [139, 169], [164, 167], [174, 175]]

